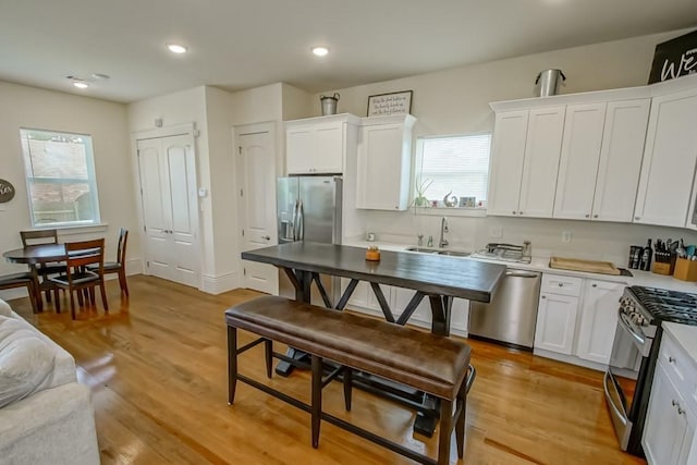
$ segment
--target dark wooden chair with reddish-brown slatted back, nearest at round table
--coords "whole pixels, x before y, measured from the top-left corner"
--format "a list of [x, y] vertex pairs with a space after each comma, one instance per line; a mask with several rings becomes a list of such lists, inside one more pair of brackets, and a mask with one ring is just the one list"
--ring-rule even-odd
[[[105, 311], [109, 311], [107, 303], [107, 292], [105, 289], [105, 240], [68, 242], [65, 243], [65, 273], [50, 277], [49, 280], [56, 285], [56, 311], [60, 313], [60, 299], [58, 289], [63, 289], [70, 294], [70, 311], [75, 319], [75, 296], [73, 291], [89, 291], [88, 295], [91, 304], [95, 305], [95, 286], [99, 286], [101, 293], [101, 305]], [[96, 265], [97, 271], [87, 269], [87, 266]], [[78, 294], [78, 298], [82, 299]]]

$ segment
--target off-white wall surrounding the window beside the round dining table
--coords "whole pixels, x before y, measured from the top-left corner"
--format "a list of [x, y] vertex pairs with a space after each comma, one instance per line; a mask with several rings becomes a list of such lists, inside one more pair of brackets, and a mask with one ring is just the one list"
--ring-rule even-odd
[[[21, 247], [20, 231], [32, 227], [20, 127], [35, 127], [89, 134], [93, 139], [101, 221], [109, 227], [85, 234], [59, 233], [60, 240], [66, 242], [105, 236], [108, 258], [115, 259], [119, 229], [124, 227], [132, 231], [127, 257], [130, 260], [139, 258], [138, 220], [133, 208], [136, 203], [135, 181], [129, 163], [131, 150], [126, 107], [4, 82], [0, 82], [0, 178], [10, 181], [16, 189], [14, 199], [0, 204], [0, 252]], [[26, 266], [0, 260], [0, 273], [24, 270]], [[129, 270], [139, 271], [139, 267]]]

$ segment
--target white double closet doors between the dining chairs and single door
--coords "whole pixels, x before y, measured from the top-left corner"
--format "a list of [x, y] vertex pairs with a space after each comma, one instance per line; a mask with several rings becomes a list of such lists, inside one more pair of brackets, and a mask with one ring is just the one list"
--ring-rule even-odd
[[146, 269], [198, 287], [196, 160], [191, 135], [137, 142], [146, 234]]

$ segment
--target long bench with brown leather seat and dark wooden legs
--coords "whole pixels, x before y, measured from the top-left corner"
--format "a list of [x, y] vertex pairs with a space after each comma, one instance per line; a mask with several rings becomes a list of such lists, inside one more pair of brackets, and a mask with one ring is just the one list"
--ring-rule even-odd
[[[314, 448], [319, 444], [319, 426], [323, 419], [424, 464], [449, 463], [454, 428], [457, 455], [462, 458], [466, 395], [475, 376], [474, 368], [469, 366], [468, 345], [387, 321], [274, 296], [258, 297], [231, 307], [225, 311], [225, 322], [231, 405], [234, 402], [236, 382], [240, 380], [309, 412]], [[260, 338], [237, 347], [237, 328]], [[267, 377], [272, 376], [273, 357], [296, 363], [273, 352], [272, 341], [311, 355], [310, 405], [237, 372], [237, 355], [260, 343], [265, 344]], [[326, 377], [323, 358], [340, 364], [339, 368]], [[438, 461], [322, 412], [321, 390], [340, 375], [343, 375], [345, 406], [347, 411], [351, 409], [352, 370], [377, 375], [441, 400]]]

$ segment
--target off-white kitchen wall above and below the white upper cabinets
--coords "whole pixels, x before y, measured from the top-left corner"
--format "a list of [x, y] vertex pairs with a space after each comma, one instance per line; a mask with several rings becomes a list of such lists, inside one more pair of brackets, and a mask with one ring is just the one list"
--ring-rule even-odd
[[[493, 129], [489, 102], [534, 97], [535, 77], [539, 71], [563, 70], [567, 81], [560, 94], [641, 86], [648, 81], [656, 45], [684, 33], [557, 50], [320, 94], [339, 91], [338, 111], [364, 117], [368, 96], [413, 90], [412, 113], [418, 119], [415, 136], [489, 132]], [[311, 100], [319, 102], [320, 94]], [[310, 109], [313, 113], [306, 117], [321, 113], [319, 105], [310, 106]], [[448, 215], [448, 211], [442, 213]], [[426, 237], [433, 235], [438, 241], [440, 218], [367, 210], [360, 215], [366, 231], [377, 232], [382, 238], [413, 244], [418, 233]], [[645, 245], [648, 237], [685, 237], [688, 243], [697, 243], [697, 234], [692, 231], [647, 225], [498, 217], [451, 218], [450, 222], [449, 240], [453, 246], [476, 249], [488, 242], [530, 240], [537, 254], [607, 259], [617, 264], [625, 264], [629, 245]], [[490, 232], [496, 228], [501, 228], [502, 237], [491, 237]], [[573, 233], [571, 243], [561, 242], [562, 231]]]

